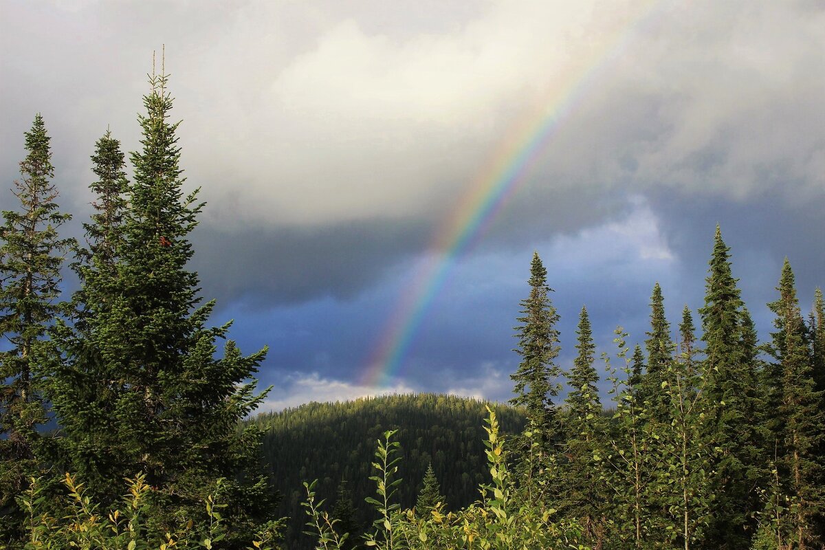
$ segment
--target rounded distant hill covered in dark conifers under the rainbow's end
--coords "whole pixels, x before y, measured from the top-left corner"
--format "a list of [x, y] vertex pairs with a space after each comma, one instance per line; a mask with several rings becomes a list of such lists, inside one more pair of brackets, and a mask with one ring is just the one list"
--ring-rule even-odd
[[284, 497], [280, 513], [290, 516], [288, 548], [309, 548], [309, 538], [301, 534], [307, 521], [300, 505], [304, 481], [318, 479], [316, 491], [319, 499], [328, 499], [326, 510], [332, 510], [337, 487], [346, 481], [356, 522], [367, 525], [375, 519], [364, 498], [375, 496], [371, 463], [385, 430], [398, 430], [403, 507], [415, 504], [429, 463], [450, 510], [476, 500], [479, 483], [489, 478], [483, 446], [487, 404], [495, 409], [504, 434], [521, 431], [524, 417], [513, 407], [431, 393], [312, 402], [250, 419], [265, 434], [264, 460]]

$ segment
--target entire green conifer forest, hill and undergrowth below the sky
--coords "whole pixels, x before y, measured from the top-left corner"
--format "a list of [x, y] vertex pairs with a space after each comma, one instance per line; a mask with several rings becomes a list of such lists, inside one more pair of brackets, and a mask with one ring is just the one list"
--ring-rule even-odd
[[672, 325], [654, 284], [643, 346], [618, 327], [597, 355], [582, 308], [571, 365], [536, 253], [513, 407], [251, 416], [266, 348], [243, 355], [207, 324], [215, 303], [187, 270], [205, 204], [183, 191], [167, 85], [150, 78], [131, 177], [110, 132], [94, 144], [85, 242], [59, 233], [45, 120], [25, 133], [0, 242], [0, 548], [274, 549], [300, 524], [325, 550], [823, 548], [823, 294], [804, 311], [786, 260], [760, 340], [719, 227], [698, 312]]

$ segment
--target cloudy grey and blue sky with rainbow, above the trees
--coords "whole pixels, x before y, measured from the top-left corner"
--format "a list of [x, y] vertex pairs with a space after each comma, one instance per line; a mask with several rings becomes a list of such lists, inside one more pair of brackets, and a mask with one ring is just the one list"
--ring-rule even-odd
[[165, 47], [207, 201], [191, 267], [212, 322], [269, 346], [262, 410], [505, 401], [534, 251], [563, 369], [582, 306], [610, 355], [617, 325], [644, 340], [654, 283], [674, 327], [700, 308], [717, 223], [762, 339], [785, 256], [808, 311], [823, 29], [822, 0], [4, 0], [0, 209], [40, 112], [79, 236], [94, 143], [139, 148]]

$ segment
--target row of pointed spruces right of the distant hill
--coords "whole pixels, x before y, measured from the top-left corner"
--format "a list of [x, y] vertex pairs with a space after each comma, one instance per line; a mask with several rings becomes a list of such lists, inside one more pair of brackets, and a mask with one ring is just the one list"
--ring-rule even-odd
[[[512, 402], [527, 415], [516, 449], [526, 499], [575, 520], [587, 548], [823, 548], [820, 289], [806, 322], [785, 259], [768, 304], [775, 331], [759, 343], [717, 226], [700, 336], [687, 306], [672, 329], [656, 284], [643, 347], [630, 350], [618, 328], [616, 356], [601, 355], [613, 411], [605, 417], [587, 309], [564, 373], [538, 254], [530, 275], [512, 375]], [[561, 378], [570, 391], [556, 402]]]

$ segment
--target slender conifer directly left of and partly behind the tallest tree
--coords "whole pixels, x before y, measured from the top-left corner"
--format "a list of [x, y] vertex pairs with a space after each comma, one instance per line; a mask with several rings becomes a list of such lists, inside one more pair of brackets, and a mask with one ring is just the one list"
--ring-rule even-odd
[[89, 186], [96, 195], [95, 212], [83, 223], [87, 248], [78, 250], [73, 264], [81, 288], [73, 296], [73, 326], [59, 323], [53, 331], [65, 360], [54, 365], [50, 395], [66, 435], [61, 440], [64, 468], [80, 474], [99, 494], [111, 491], [111, 480], [120, 477], [121, 464], [112, 450], [122, 445], [115, 405], [125, 385], [111, 358], [101, 355], [106, 347], [100, 339], [106, 336], [99, 330], [99, 319], [111, 314], [114, 303], [129, 191], [124, 153], [108, 130], [95, 144], [92, 172], [97, 176]]

